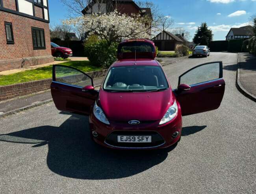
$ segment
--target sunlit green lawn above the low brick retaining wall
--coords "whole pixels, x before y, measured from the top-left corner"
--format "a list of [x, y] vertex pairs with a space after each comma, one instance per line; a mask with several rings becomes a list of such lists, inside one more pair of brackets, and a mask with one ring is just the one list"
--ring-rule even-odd
[[[83, 72], [98, 71], [102, 69], [102, 67], [90, 65], [89, 61], [70, 61], [61, 63], [61, 65], [71, 66]], [[0, 85], [11, 85], [15, 83], [30, 82], [48, 78], [52, 78], [52, 65], [0, 76]]]

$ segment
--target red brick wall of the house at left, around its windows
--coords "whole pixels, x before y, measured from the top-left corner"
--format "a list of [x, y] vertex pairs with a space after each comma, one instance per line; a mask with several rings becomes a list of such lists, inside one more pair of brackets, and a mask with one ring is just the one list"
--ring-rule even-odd
[[[14, 44], [6, 44], [4, 22], [12, 23]], [[38, 27], [45, 30], [46, 49], [33, 50], [31, 27]], [[45, 59], [41, 60], [42, 57], [45, 57]], [[15, 60], [17, 63], [15, 63]], [[21, 67], [24, 64], [20, 63], [20, 61], [24, 60], [27, 62], [26, 64], [30, 65], [53, 62], [53, 58], [51, 57], [49, 24], [0, 11], [0, 71]]]

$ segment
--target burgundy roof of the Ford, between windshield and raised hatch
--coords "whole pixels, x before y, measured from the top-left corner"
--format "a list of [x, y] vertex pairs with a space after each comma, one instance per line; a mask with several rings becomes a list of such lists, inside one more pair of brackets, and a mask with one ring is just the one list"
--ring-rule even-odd
[[156, 60], [150, 60], [150, 59], [138, 59], [136, 61], [131, 60], [131, 59], [125, 59], [125, 60], [118, 60], [117, 62], [113, 63], [113, 65], [111, 65], [111, 67], [121, 67], [121, 66], [127, 66], [127, 65], [159, 66], [159, 63]]

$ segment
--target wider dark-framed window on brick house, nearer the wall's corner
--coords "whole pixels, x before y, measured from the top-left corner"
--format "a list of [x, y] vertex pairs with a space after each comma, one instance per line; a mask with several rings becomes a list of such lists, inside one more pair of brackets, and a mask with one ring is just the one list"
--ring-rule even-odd
[[45, 49], [45, 31], [32, 27], [32, 40], [34, 49]]

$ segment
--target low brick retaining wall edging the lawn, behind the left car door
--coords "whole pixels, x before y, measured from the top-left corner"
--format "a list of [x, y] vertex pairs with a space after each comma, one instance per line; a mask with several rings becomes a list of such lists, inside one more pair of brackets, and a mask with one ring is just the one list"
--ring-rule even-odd
[[[105, 76], [107, 71], [108, 69], [104, 69], [101, 71], [89, 72], [87, 74], [92, 78], [98, 78]], [[69, 79], [72, 79], [73, 83], [77, 82], [75, 76], [69, 76]], [[24, 82], [13, 85], [0, 86], [0, 102], [3, 100], [8, 100], [19, 96], [25, 96], [28, 94], [33, 94], [35, 92], [48, 90], [50, 89], [51, 82], [52, 79], [46, 79], [33, 82]]]

